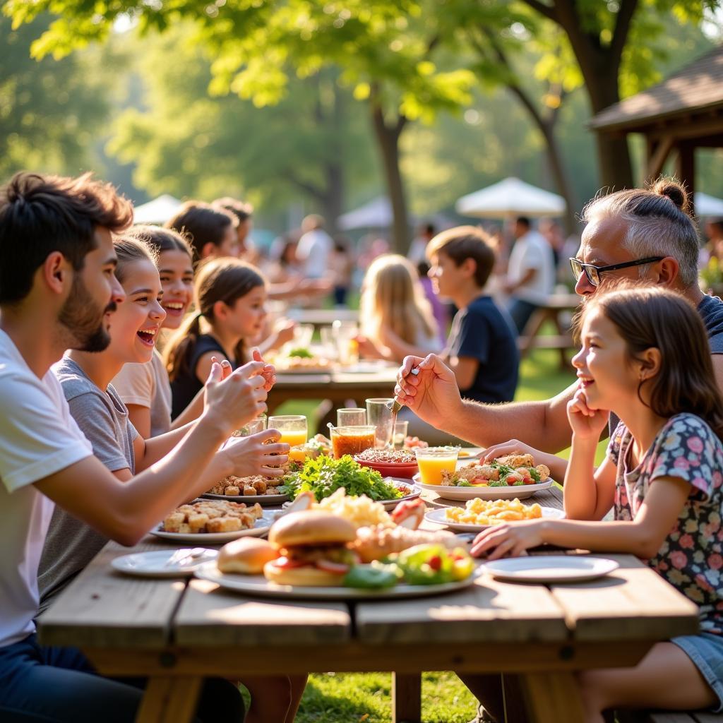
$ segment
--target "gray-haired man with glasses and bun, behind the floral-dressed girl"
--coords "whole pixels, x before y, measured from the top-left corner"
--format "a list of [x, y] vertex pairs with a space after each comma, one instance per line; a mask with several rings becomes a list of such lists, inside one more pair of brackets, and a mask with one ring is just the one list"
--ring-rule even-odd
[[[703, 319], [716, 380], [723, 389], [723, 302], [698, 287], [698, 234], [687, 208], [685, 189], [667, 179], [650, 190], [630, 189], [596, 198], [583, 211], [586, 227], [570, 265], [583, 303], [602, 284], [621, 278], [662, 284], [683, 294]], [[415, 367], [419, 374], [410, 375]], [[527, 448], [555, 454], [570, 446], [567, 406], [577, 382], [544, 401], [484, 405], [461, 398], [453, 372], [435, 354], [406, 357], [397, 380], [395, 393], [401, 403], [437, 429], [475, 445], [499, 445], [500, 454], [523, 453]], [[617, 419], [612, 419], [612, 429], [616, 425]], [[502, 720], [505, 708], [508, 721], [523, 719], [517, 685], [508, 684], [508, 693], [513, 694], [503, 701], [499, 676], [461, 677], [495, 716], [480, 711], [476, 721]]]

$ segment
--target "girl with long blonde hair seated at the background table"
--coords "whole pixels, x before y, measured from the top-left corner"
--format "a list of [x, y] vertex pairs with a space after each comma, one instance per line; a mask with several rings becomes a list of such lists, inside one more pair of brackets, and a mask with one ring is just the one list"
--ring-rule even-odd
[[414, 266], [403, 256], [385, 254], [369, 265], [359, 303], [364, 356], [401, 361], [442, 350], [432, 308]]

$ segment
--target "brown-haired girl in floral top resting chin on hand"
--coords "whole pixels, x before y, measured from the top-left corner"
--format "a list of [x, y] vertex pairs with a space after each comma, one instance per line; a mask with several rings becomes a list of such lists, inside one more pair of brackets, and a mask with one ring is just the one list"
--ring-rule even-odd
[[[596, 294], [573, 365], [567, 519], [487, 529], [472, 553], [494, 560], [549, 543], [646, 560], [698, 604], [700, 633], [657, 643], [635, 668], [581, 672], [586, 722], [617, 708], [721, 711], [723, 398], [703, 322], [659, 287]], [[609, 411], [621, 421], [595, 470]], [[610, 508], [614, 519], [603, 521]]]

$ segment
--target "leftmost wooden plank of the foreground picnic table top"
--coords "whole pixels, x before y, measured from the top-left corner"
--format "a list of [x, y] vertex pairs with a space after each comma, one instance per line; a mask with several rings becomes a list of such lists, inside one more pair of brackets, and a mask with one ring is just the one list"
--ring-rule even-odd
[[133, 548], [110, 542], [38, 619], [43, 645], [157, 649], [168, 643], [171, 618], [186, 583], [116, 573], [111, 560], [168, 549], [148, 536]]

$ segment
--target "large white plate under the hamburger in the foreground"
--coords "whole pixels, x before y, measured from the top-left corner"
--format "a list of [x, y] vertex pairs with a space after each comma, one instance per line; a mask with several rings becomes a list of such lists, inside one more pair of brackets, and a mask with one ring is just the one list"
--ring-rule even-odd
[[348, 587], [303, 587], [299, 585], [278, 585], [269, 582], [262, 575], [237, 575], [221, 573], [215, 562], [206, 562], [196, 570], [196, 577], [217, 583], [228, 590], [262, 597], [285, 597], [316, 600], [369, 600], [393, 599], [400, 597], [426, 597], [445, 592], [455, 592], [472, 585], [479, 576], [478, 568], [466, 580], [442, 585], [395, 585], [386, 590], [364, 590]]

